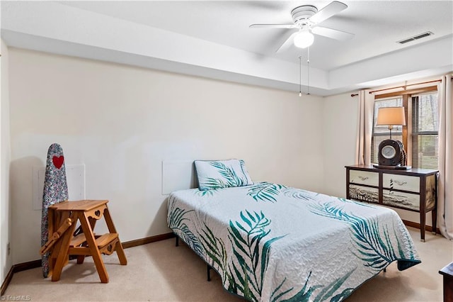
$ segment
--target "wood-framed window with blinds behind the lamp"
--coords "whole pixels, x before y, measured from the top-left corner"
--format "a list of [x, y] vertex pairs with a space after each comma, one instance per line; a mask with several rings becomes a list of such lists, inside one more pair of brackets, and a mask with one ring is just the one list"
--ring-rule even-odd
[[374, 101], [371, 162], [378, 162], [379, 144], [390, 138], [387, 126], [376, 125], [380, 107], [406, 108], [406, 126], [395, 125], [391, 138], [403, 142], [408, 155], [408, 165], [414, 168], [438, 169], [439, 144], [437, 140], [439, 118], [437, 91], [393, 96], [377, 96]]

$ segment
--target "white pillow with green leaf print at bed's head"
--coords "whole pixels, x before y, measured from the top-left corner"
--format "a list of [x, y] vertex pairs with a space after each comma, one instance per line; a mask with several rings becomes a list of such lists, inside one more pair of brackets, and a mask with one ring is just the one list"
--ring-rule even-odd
[[243, 160], [195, 160], [200, 190], [253, 184]]

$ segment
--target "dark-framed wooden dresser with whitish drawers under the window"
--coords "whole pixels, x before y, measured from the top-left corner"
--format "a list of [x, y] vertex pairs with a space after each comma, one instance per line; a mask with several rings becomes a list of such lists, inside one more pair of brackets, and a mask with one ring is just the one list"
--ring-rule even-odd
[[379, 169], [354, 165], [346, 168], [346, 198], [420, 213], [420, 237], [425, 241], [425, 217], [437, 222], [437, 170]]

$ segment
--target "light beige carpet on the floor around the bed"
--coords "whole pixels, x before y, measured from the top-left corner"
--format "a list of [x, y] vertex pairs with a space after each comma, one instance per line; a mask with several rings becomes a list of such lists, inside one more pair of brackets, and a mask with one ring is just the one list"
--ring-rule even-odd
[[[409, 228], [422, 263], [399, 272], [396, 263], [387, 272], [360, 286], [347, 299], [357, 301], [442, 301], [439, 269], [453, 261], [453, 242], [441, 235]], [[219, 275], [184, 244], [163, 240], [125, 250], [127, 266], [116, 254], [104, 256], [110, 282], [101, 284], [91, 257], [84, 264], [75, 260], [64, 268], [60, 281], [43, 279], [41, 269], [14, 274], [5, 296], [28, 296], [30, 301], [243, 301], [222, 288]], [[328, 274], [328, 272], [326, 272]], [[7, 297], [1, 297], [2, 300]], [[11, 298], [10, 298], [11, 300]]]

